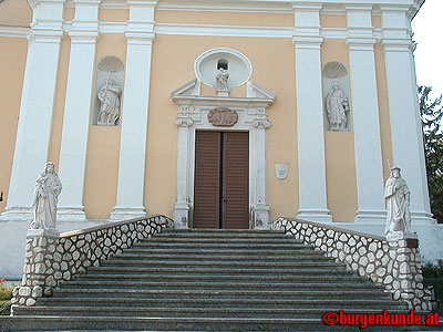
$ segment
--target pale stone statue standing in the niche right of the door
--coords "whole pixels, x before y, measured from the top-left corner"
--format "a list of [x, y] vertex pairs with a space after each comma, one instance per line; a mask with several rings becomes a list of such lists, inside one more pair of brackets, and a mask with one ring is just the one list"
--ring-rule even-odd
[[331, 131], [346, 131], [348, 125], [349, 101], [340, 89], [338, 81], [332, 82], [332, 89], [326, 97], [326, 111]]

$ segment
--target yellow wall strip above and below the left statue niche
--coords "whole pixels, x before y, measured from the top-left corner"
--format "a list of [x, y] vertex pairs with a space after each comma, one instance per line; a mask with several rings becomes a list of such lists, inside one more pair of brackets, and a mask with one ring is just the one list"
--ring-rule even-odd
[[[100, 35], [95, 65], [106, 55], [119, 56], [126, 63], [126, 39], [123, 34]], [[84, 207], [87, 218], [105, 219], [116, 203], [121, 126], [92, 125], [92, 116], [91, 110]]]

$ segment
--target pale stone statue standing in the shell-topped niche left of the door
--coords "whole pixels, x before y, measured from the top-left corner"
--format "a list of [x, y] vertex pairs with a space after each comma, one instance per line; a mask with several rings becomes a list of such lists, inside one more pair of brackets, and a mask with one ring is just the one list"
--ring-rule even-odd
[[120, 116], [120, 87], [115, 76], [109, 76], [106, 83], [97, 92], [100, 111], [97, 125], [113, 126]]

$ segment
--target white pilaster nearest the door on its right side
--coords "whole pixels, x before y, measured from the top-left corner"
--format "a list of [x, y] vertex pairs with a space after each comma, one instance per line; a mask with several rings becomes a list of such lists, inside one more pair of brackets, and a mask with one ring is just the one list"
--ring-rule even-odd
[[332, 221], [327, 204], [321, 94], [321, 6], [293, 6], [299, 169], [298, 218]]

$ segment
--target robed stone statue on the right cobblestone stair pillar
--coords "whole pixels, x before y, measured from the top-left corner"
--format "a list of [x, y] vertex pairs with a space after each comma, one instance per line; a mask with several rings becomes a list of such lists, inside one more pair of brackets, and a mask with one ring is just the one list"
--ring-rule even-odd
[[399, 167], [391, 168], [391, 175], [384, 186], [384, 200], [388, 209], [385, 235], [392, 235], [394, 231], [412, 234], [410, 191]]

